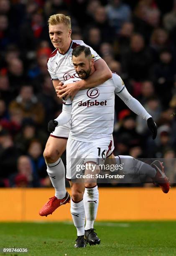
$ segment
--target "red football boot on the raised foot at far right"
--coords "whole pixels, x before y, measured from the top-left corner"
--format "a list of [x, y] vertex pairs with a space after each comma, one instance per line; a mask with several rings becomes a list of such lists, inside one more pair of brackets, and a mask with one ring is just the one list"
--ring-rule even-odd
[[163, 163], [159, 160], [155, 160], [150, 165], [156, 169], [156, 176], [153, 178], [153, 184], [159, 185], [164, 193], [168, 193], [170, 189], [170, 182], [164, 173]]

